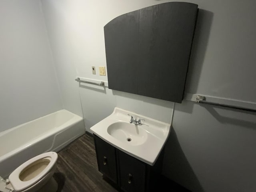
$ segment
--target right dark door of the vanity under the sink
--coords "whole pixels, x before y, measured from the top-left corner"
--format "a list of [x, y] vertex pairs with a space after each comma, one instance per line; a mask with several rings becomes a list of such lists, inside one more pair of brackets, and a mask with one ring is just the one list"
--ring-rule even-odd
[[144, 192], [146, 164], [118, 150], [120, 185], [125, 192]]

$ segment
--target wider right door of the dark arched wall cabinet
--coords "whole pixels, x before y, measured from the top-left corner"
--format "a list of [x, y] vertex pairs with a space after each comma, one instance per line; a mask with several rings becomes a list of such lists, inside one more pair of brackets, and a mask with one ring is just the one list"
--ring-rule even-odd
[[196, 13], [180, 2], [140, 10], [138, 94], [182, 101]]

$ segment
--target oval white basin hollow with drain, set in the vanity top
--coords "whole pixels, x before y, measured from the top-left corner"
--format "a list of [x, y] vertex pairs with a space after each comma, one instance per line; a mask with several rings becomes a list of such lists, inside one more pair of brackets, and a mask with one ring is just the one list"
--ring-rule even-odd
[[113, 123], [108, 126], [107, 132], [112, 137], [130, 145], [143, 144], [148, 138], [146, 130], [141, 125], [138, 126], [128, 122]]

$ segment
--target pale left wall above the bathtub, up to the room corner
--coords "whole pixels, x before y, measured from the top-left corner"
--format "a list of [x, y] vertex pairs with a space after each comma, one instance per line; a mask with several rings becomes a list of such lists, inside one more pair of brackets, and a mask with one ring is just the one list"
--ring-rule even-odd
[[39, 0], [0, 1], [0, 132], [62, 109]]

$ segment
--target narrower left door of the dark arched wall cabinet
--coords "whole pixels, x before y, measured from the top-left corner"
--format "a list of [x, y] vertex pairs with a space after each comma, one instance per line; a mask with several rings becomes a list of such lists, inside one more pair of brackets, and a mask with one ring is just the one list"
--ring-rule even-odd
[[115, 18], [104, 27], [108, 88], [137, 93], [139, 11]]

